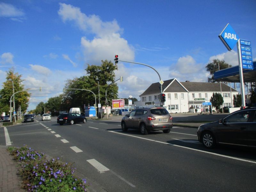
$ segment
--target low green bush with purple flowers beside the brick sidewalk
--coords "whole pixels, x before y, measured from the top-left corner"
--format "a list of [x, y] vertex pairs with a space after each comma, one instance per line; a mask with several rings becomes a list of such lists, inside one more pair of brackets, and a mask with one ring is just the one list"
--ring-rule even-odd
[[70, 163], [61, 163], [59, 158], [47, 160], [43, 153], [27, 146], [7, 149], [14, 160], [20, 162], [19, 175], [22, 188], [27, 191], [86, 191], [85, 179], [74, 175]]

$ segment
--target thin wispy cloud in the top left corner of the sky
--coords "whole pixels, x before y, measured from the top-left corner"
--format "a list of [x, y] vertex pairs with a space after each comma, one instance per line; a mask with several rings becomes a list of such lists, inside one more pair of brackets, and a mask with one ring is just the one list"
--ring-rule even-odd
[[0, 3], [0, 17], [11, 17], [12, 20], [15, 20], [13, 17], [24, 16], [22, 10], [17, 9], [12, 4]]

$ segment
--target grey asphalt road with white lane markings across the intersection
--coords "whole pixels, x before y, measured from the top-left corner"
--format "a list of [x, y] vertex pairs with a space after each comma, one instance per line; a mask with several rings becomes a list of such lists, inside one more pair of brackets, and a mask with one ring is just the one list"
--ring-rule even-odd
[[[12, 146], [29, 147], [64, 162], [98, 188], [95, 191], [255, 191], [255, 150], [205, 149], [196, 129], [174, 127], [141, 135], [121, 131], [120, 120], [51, 121], [7, 127]], [[5, 145], [0, 129], [0, 145]]]

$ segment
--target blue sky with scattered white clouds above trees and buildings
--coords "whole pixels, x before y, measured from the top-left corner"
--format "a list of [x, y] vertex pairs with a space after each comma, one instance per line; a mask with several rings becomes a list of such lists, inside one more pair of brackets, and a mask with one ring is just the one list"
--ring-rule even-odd
[[[59, 96], [67, 79], [86, 75], [87, 64], [114, 63], [116, 54], [155, 68], [163, 81], [207, 82], [213, 59], [238, 65], [236, 46], [228, 51], [218, 37], [228, 23], [251, 41], [256, 60], [255, 7], [255, 0], [0, 0], [0, 83], [14, 67], [25, 89], [41, 86], [31, 91], [32, 110]], [[119, 98], [140, 100], [160, 81], [147, 66], [117, 66]]]

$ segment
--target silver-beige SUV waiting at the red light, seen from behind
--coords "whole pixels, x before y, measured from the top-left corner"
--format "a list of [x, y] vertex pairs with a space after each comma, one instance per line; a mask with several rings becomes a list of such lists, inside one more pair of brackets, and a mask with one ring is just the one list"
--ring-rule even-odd
[[137, 108], [122, 118], [123, 131], [128, 128], [139, 129], [141, 134], [146, 135], [148, 131], [162, 130], [169, 133], [172, 128], [172, 116], [163, 107]]

